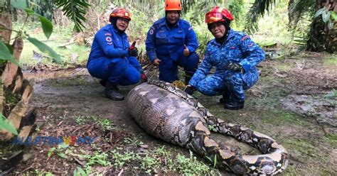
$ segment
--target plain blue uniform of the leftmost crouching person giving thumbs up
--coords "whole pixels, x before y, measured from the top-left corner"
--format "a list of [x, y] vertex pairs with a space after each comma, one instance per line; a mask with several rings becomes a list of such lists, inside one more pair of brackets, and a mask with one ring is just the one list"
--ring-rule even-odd
[[108, 24], [95, 35], [87, 61], [90, 75], [108, 80], [114, 85], [137, 84], [141, 79], [141, 65], [129, 55], [127, 34]]

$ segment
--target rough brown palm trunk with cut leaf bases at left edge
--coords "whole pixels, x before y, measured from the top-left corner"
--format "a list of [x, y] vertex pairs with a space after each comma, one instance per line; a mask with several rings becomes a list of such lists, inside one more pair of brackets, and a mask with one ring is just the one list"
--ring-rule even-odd
[[[4, 30], [0, 30], [0, 40], [9, 45], [12, 26], [11, 15], [9, 13], [0, 13], [0, 26], [5, 28]], [[13, 49], [15, 60], [19, 61], [23, 49], [22, 38], [17, 37], [11, 45], [11, 48]], [[21, 119], [25, 116], [28, 109], [28, 99], [31, 96], [33, 89], [31, 83], [28, 82], [28, 80], [23, 79], [21, 68], [18, 66], [11, 62], [4, 62], [0, 65], [0, 69], [0, 113], [7, 116], [8, 120], [14, 125], [16, 130], [18, 130], [22, 125]], [[16, 102], [16, 104], [7, 105], [6, 99], [8, 99], [8, 97], [13, 97], [13, 95], [14, 97], [20, 95], [21, 99]], [[31, 125], [28, 125], [25, 129], [26, 132], [24, 134], [22, 134], [20, 130], [19, 136], [28, 136], [27, 129], [31, 129]], [[11, 138], [13, 138], [12, 133], [6, 130], [0, 130], [0, 141], [9, 141]]]

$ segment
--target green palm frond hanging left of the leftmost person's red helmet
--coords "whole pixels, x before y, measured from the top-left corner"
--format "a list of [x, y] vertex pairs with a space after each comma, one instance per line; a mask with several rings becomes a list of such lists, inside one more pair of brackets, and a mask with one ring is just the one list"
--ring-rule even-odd
[[56, 0], [55, 5], [58, 6], [72, 21], [74, 21], [74, 30], [79, 32], [85, 28], [84, 22], [86, 21], [85, 13], [90, 6], [87, 0]]

